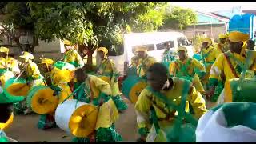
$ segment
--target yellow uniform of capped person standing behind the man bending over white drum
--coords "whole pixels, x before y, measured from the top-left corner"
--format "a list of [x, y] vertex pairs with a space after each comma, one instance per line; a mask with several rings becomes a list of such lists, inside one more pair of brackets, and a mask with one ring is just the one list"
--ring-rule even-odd
[[100, 65], [104, 65], [104, 66], [98, 67], [99, 75], [104, 76], [105, 74], [107, 74], [105, 76], [108, 77], [107, 79], [109, 80], [109, 84], [111, 86], [112, 95], [114, 97], [117, 96], [120, 93], [119, 86], [118, 86], [118, 78], [116, 78], [115, 76], [110, 77], [109, 75], [109, 74], [118, 74], [118, 70], [114, 62], [111, 59], [106, 58], [101, 62]]

